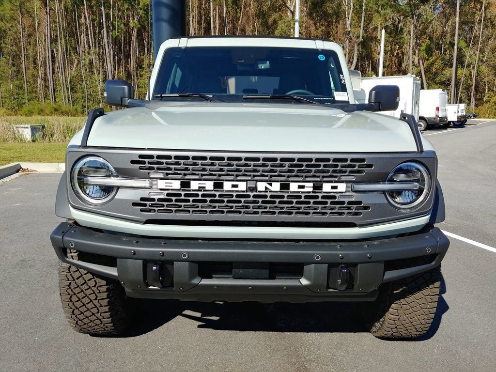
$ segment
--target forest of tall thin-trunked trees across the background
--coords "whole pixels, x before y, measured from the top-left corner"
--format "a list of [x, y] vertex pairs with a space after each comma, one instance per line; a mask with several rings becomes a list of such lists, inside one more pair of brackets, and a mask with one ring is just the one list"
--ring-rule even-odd
[[[295, 0], [185, 0], [188, 35], [294, 34]], [[458, 5], [458, 11], [457, 11]], [[343, 46], [349, 68], [416, 74], [470, 112], [496, 117], [496, 0], [301, 0], [300, 36]], [[456, 19], [458, 14], [458, 36]], [[0, 118], [86, 115], [103, 84], [146, 94], [153, 64], [149, 0], [0, 0]], [[458, 40], [455, 43], [455, 40]]]

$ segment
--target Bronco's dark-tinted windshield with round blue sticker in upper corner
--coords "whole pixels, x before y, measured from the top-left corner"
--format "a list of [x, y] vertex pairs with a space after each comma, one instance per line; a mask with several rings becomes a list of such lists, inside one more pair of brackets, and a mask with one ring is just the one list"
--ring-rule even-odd
[[[185, 98], [173, 97], [181, 93], [208, 94], [228, 102], [250, 96], [295, 95], [318, 103], [349, 103], [336, 52], [317, 49], [169, 48], [153, 97]], [[168, 94], [172, 97], [163, 96]]]

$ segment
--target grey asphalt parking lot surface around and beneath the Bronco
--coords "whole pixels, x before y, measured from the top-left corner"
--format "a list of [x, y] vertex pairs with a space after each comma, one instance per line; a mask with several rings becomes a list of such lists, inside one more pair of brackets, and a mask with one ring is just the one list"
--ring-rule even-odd
[[1, 371], [495, 371], [496, 121], [424, 132], [437, 150], [451, 238], [434, 329], [382, 341], [353, 304], [143, 301], [125, 337], [72, 331], [49, 235], [60, 174], [0, 184]]

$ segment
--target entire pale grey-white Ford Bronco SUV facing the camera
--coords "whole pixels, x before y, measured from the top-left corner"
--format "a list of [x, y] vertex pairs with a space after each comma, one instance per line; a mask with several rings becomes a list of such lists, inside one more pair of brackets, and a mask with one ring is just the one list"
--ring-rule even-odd
[[[109, 105], [70, 141], [51, 241], [62, 307], [82, 333], [125, 332], [136, 298], [357, 302], [374, 336], [434, 319], [449, 241], [434, 148], [353, 96], [325, 40], [164, 42], [146, 100]], [[139, 316], [139, 314], [138, 314]]]

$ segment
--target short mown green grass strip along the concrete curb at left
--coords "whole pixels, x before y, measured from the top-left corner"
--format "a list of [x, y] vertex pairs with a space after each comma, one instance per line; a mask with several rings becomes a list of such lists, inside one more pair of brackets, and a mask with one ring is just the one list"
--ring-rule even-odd
[[66, 143], [0, 143], [0, 166], [9, 163], [64, 163]]

